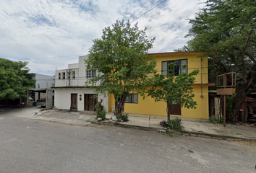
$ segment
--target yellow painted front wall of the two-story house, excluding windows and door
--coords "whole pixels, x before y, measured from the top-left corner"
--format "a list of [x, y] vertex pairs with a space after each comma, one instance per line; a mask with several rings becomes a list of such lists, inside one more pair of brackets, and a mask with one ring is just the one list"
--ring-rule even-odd
[[[187, 59], [188, 73], [195, 68], [200, 69], [200, 74], [196, 76], [196, 83], [201, 84], [201, 58], [197, 58], [199, 53], [155, 53], [150, 54], [155, 56], [157, 60], [156, 68], [161, 73], [161, 62], [172, 61], [179, 59]], [[202, 84], [208, 84], [208, 58], [202, 58]], [[202, 88], [202, 89], [201, 89]], [[193, 86], [193, 92], [195, 94], [194, 100], [197, 102], [197, 109], [182, 108], [182, 115], [175, 117], [192, 117], [208, 119], [208, 86]], [[203, 96], [202, 98], [200, 96]], [[124, 112], [144, 115], [161, 115], [167, 116], [166, 102], [155, 102], [151, 97], [145, 97], [143, 100], [139, 94], [138, 104], [125, 103]], [[114, 105], [114, 95], [108, 95], [108, 112], [111, 112]]]

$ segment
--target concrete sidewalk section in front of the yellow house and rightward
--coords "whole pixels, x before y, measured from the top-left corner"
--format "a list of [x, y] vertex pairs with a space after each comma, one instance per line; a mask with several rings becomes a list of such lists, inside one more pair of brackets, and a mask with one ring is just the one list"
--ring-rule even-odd
[[[112, 115], [113, 113], [108, 113], [106, 117], [110, 120]], [[182, 130], [182, 134], [184, 135], [216, 138], [228, 141], [256, 141], [256, 127], [247, 127], [239, 124], [227, 124], [224, 128], [223, 125], [210, 123], [209, 120], [185, 117], [180, 118], [182, 119], [182, 124], [184, 126], [184, 129]], [[103, 123], [114, 123], [109, 122], [109, 120], [105, 120]], [[163, 127], [160, 125], [162, 120], [167, 120], [167, 117], [129, 114], [128, 122], [121, 122], [117, 124], [119, 126], [131, 128], [160, 130], [163, 129]]]

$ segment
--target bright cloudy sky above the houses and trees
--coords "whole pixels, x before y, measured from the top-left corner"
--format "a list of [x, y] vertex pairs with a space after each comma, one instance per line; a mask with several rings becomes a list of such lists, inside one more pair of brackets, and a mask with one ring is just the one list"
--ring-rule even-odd
[[188, 19], [195, 18], [204, 2], [1, 0], [0, 58], [28, 61], [30, 73], [53, 76], [56, 69], [66, 69], [68, 64], [78, 63], [79, 56], [88, 55], [102, 30], [123, 19], [136, 19], [132, 25], [138, 22], [140, 30], [147, 27], [148, 39], [155, 37], [149, 53], [172, 52], [186, 45], [184, 36], [191, 27]]

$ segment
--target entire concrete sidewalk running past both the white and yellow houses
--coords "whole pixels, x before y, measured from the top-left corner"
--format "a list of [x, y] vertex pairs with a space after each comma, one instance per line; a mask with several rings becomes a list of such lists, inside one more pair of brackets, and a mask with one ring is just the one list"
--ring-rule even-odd
[[[25, 109], [22, 109], [25, 110]], [[126, 128], [139, 128], [144, 130], [163, 130], [160, 125], [162, 120], [166, 120], [165, 116], [155, 115], [139, 115], [129, 114], [128, 122], [116, 122], [111, 120], [112, 112], [107, 113], [107, 120], [95, 120], [95, 112], [69, 112], [60, 110], [45, 110], [39, 109], [35, 112], [35, 108], [27, 108], [25, 112], [19, 113], [19, 117], [26, 117], [34, 120], [46, 120], [55, 123], [64, 123], [70, 125], [90, 125], [91, 123], [98, 123], [103, 125], [117, 125]], [[33, 113], [32, 113], [32, 112]], [[181, 117], [184, 129], [182, 134], [185, 136], [198, 136], [205, 138], [216, 138], [229, 141], [256, 141], [256, 127], [247, 127], [243, 125], [223, 125], [210, 123], [209, 120], [193, 119]]]

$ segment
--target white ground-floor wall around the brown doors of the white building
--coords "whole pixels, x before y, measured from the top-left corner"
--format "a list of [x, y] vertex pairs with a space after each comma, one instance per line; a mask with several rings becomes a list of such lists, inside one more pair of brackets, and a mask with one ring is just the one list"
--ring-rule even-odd
[[[54, 96], [54, 105], [58, 109], [67, 109], [69, 110], [71, 107], [71, 94], [77, 94], [77, 110], [83, 111], [85, 110], [85, 97], [84, 94], [94, 94], [93, 89], [55, 89]], [[80, 100], [81, 95], [81, 100]], [[108, 112], [108, 96], [104, 96], [103, 94], [98, 94], [98, 101], [103, 99], [104, 111]]]

